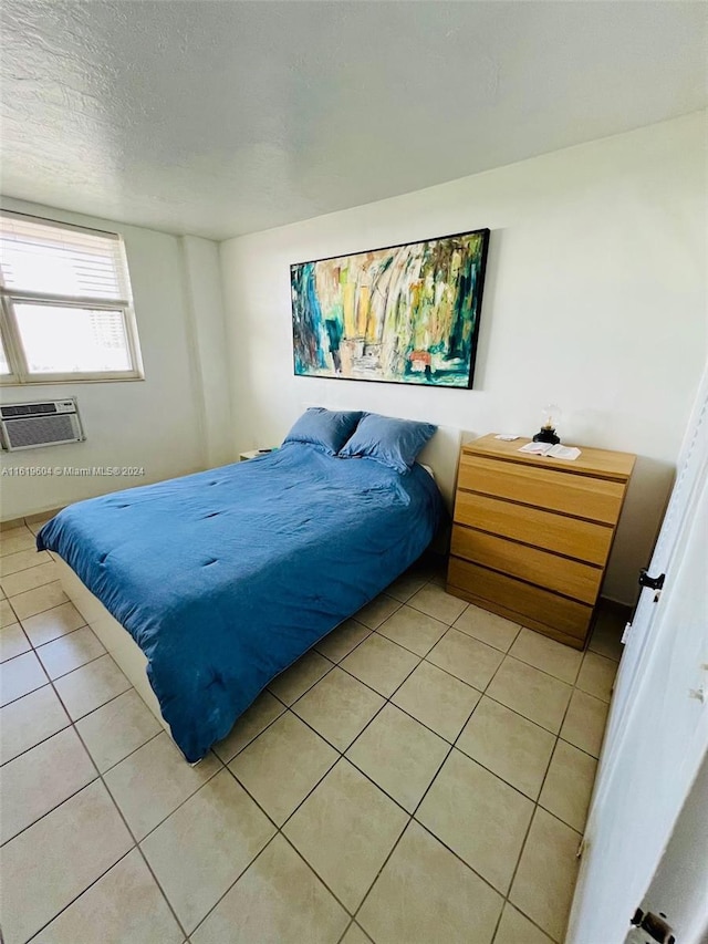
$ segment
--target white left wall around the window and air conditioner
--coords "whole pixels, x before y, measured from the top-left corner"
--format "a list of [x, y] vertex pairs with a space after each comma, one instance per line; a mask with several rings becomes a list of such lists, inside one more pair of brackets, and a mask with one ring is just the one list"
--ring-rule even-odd
[[[34, 204], [2, 199], [2, 206], [37, 216], [119, 232], [125, 240], [145, 381], [28, 384], [2, 387], [3, 403], [76, 396], [86, 442], [18, 453], [2, 453], [1, 468], [142, 466], [143, 478], [0, 477], [3, 520], [40, 512], [106, 491], [157, 481], [205, 468], [211, 455], [226, 460], [204, 423], [205, 394], [198, 352], [226, 374], [225, 352], [212, 336], [222, 328], [217, 247], [196, 240], [189, 256], [179, 237]], [[205, 281], [215, 288], [204, 288]], [[214, 401], [210, 392], [210, 403]], [[222, 391], [226, 409], [227, 390]], [[220, 417], [223, 418], [223, 411]]]

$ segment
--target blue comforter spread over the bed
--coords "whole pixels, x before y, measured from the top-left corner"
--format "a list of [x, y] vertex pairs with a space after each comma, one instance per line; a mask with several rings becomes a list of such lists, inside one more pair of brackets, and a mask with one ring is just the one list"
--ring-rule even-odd
[[404, 571], [441, 510], [419, 466], [288, 444], [92, 498], [38, 536], [131, 633], [190, 761], [262, 688]]

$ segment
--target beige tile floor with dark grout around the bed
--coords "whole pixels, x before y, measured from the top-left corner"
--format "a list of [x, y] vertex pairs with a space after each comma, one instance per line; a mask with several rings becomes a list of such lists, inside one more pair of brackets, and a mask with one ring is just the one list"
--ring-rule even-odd
[[192, 768], [40, 523], [0, 536], [6, 944], [563, 941], [616, 619], [582, 654], [414, 568]]

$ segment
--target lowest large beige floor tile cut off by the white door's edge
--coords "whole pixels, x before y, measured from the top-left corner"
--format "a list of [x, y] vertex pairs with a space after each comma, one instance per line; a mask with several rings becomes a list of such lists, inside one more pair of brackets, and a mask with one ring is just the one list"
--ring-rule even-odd
[[580, 840], [580, 833], [538, 807], [509, 895], [512, 904], [558, 942], [563, 941], [573, 900]]

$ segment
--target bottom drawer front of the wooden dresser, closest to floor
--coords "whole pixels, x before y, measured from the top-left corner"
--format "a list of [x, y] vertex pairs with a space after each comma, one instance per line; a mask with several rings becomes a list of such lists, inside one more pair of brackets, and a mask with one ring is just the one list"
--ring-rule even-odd
[[556, 597], [550, 590], [521, 583], [513, 577], [496, 573], [455, 557], [450, 557], [448, 584], [518, 613], [522, 624], [523, 616], [529, 616], [537, 623], [552, 626], [579, 640], [585, 637], [593, 613], [593, 608], [584, 603]]

